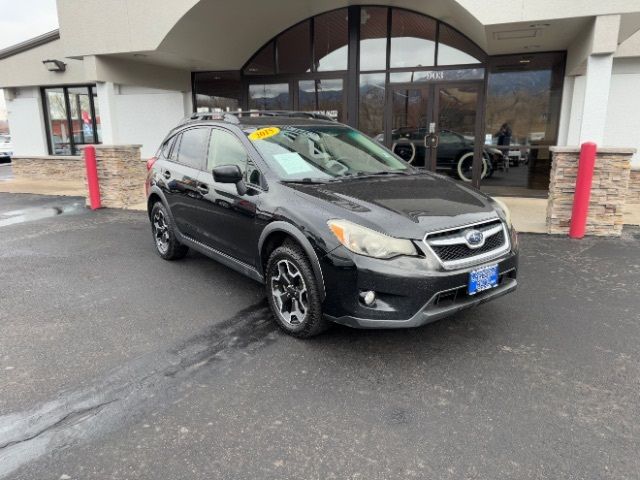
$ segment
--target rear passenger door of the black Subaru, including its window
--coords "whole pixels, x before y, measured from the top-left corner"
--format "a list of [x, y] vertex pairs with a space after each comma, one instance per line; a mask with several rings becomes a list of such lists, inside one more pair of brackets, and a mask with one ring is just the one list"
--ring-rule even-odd
[[179, 133], [160, 175], [163, 190], [178, 230], [194, 237], [197, 209], [202, 199], [198, 177], [205, 163], [209, 128], [194, 127]]

